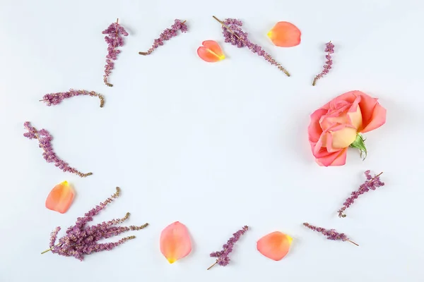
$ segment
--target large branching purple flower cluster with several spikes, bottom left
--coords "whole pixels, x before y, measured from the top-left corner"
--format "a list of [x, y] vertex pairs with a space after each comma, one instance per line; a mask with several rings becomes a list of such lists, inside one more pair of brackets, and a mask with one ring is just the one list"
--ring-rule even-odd
[[104, 238], [110, 238], [114, 235], [119, 235], [126, 231], [137, 231], [148, 226], [148, 223], [143, 224], [142, 226], [114, 226], [118, 223], [122, 223], [129, 219], [129, 213], [122, 219], [112, 219], [111, 221], [103, 221], [95, 226], [87, 226], [88, 221], [93, 220], [93, 216], [97, 215], [102, 209], [105, 209], [107, 204], [112, 202], [115, 198], [119, 197], [120, 189], [117, 187], [117, 192], [109, 197], [105, 202], [100, 203], [98, 206], [91, 209], [83, 217], [78, 217], [74, 226], [69, 227], [66, 230], [66, 235], [59, 239], [59, 243], [54, 245], [57, 240], [57, 233], [60, 230], [60, 227], [57, 227], [52, 232], [50, 238], [49, 249], [42, 252], [42, 254], [52, 251], [52, 253], [57, 255], [62, 255], [65, 257], [75, 257], [83, 261], [84, 255], [90, 255], [93, 252], [100, 252], [102, 250], [112, 250], [114, 247], [117, 247], [128, 240], [136, 238], [136, 236], [129, 236], [122, 238], [117, 242], [112, 243], [98, 243], [99, 240]]

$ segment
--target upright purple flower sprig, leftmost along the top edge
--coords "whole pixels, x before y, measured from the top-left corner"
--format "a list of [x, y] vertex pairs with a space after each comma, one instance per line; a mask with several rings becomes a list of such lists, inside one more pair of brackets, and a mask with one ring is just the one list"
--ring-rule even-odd
[[107, 56], [103, 82], [105, 82], [105, 85], [109, 87], [112, 87], [113, 85], [108, 82], [107, 78], [109, 78], [109, 75], [114, 67], [113, 61], [115, 61], [118, 54], [121, 53], [117, 47], [124, 46], [124, 37], [121, 37], [121, 35], [128, 36], [128, 32], [126, 32], [122, 25], [119, 25], [118, 20], [119, 19], [117, 19], [116, 23], [112, 23], [102, 32], [102, 34], [107, 35], [105, 37], [105, 41], [107, 43]]

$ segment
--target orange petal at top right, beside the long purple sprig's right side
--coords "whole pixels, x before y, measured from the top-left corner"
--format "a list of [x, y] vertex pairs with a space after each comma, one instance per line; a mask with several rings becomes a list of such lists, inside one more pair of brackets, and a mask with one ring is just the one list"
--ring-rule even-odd
[[292, 23], [278, 22], [268, 32], [268, 37], [278, 47], [293, 47], [300, 44], [301, 32]]

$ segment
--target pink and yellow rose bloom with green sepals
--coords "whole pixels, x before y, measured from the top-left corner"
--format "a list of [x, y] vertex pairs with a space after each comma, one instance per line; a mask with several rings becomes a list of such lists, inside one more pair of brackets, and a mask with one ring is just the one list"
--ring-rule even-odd
[[367, 152], [360, 133], [379, 128], [386, 122], [386, 109], [360, 91], [332, 99], [311, 115], [307, 129], [317, 164], [343, 166], [349, 146]]

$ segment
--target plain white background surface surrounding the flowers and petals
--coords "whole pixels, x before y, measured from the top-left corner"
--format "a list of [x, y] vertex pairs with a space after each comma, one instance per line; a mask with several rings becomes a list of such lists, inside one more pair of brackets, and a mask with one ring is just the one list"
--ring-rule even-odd
[[[0, 281], [423, 281], [423, 26], [420, 1], [20, 1], [0, 9]], [[248, 49], [223, 42], [218, 18], [240, 18], [257, 42], [292, 73], [287, 78]], [[119, 18], [129, 37], [102, 82], [102, 30]], [[189, 32], [146, 51], [175, 18]], [[298, 47], [266, 37], [286, 20], [302, 31]], [[196, 55], [205, 39], [227, 59]], [[324, 44], [334, 69], [316, 87]], [[105, 94], [47, 107], [42, 96], [69, 88]], [[330, 99], [362, 90], [387, 108], [387, 123], [366, 134], [368, 157], [348, 152], [346, 166], [314, 163], [309, 116]], [[93, 176], [63, 173], [23, 137], [31, 121], [54, 137], [59, 157]], [[336, 211], [365, 179], [384, 171], [384, 188]], [[69, 180], [69, 212], [45, 208], [49, 191]], [[47, 249], [49, 233], [122, 188], [94, 223], [131, 212], [127, 225], [151, 224], [111, 252], [84, 262]], [[192, 253], [168, 264], [160, 231], [181, 221]], [[360, 247], [330, 241], [308, 221], [347, 233]], [[231, 234], [251, 226], [226, 267], [206, 268]], [[272, 231], [293, 236], [274, 262], [256, 250]], [[59, 233], [59, 236], [64, 232]]]

